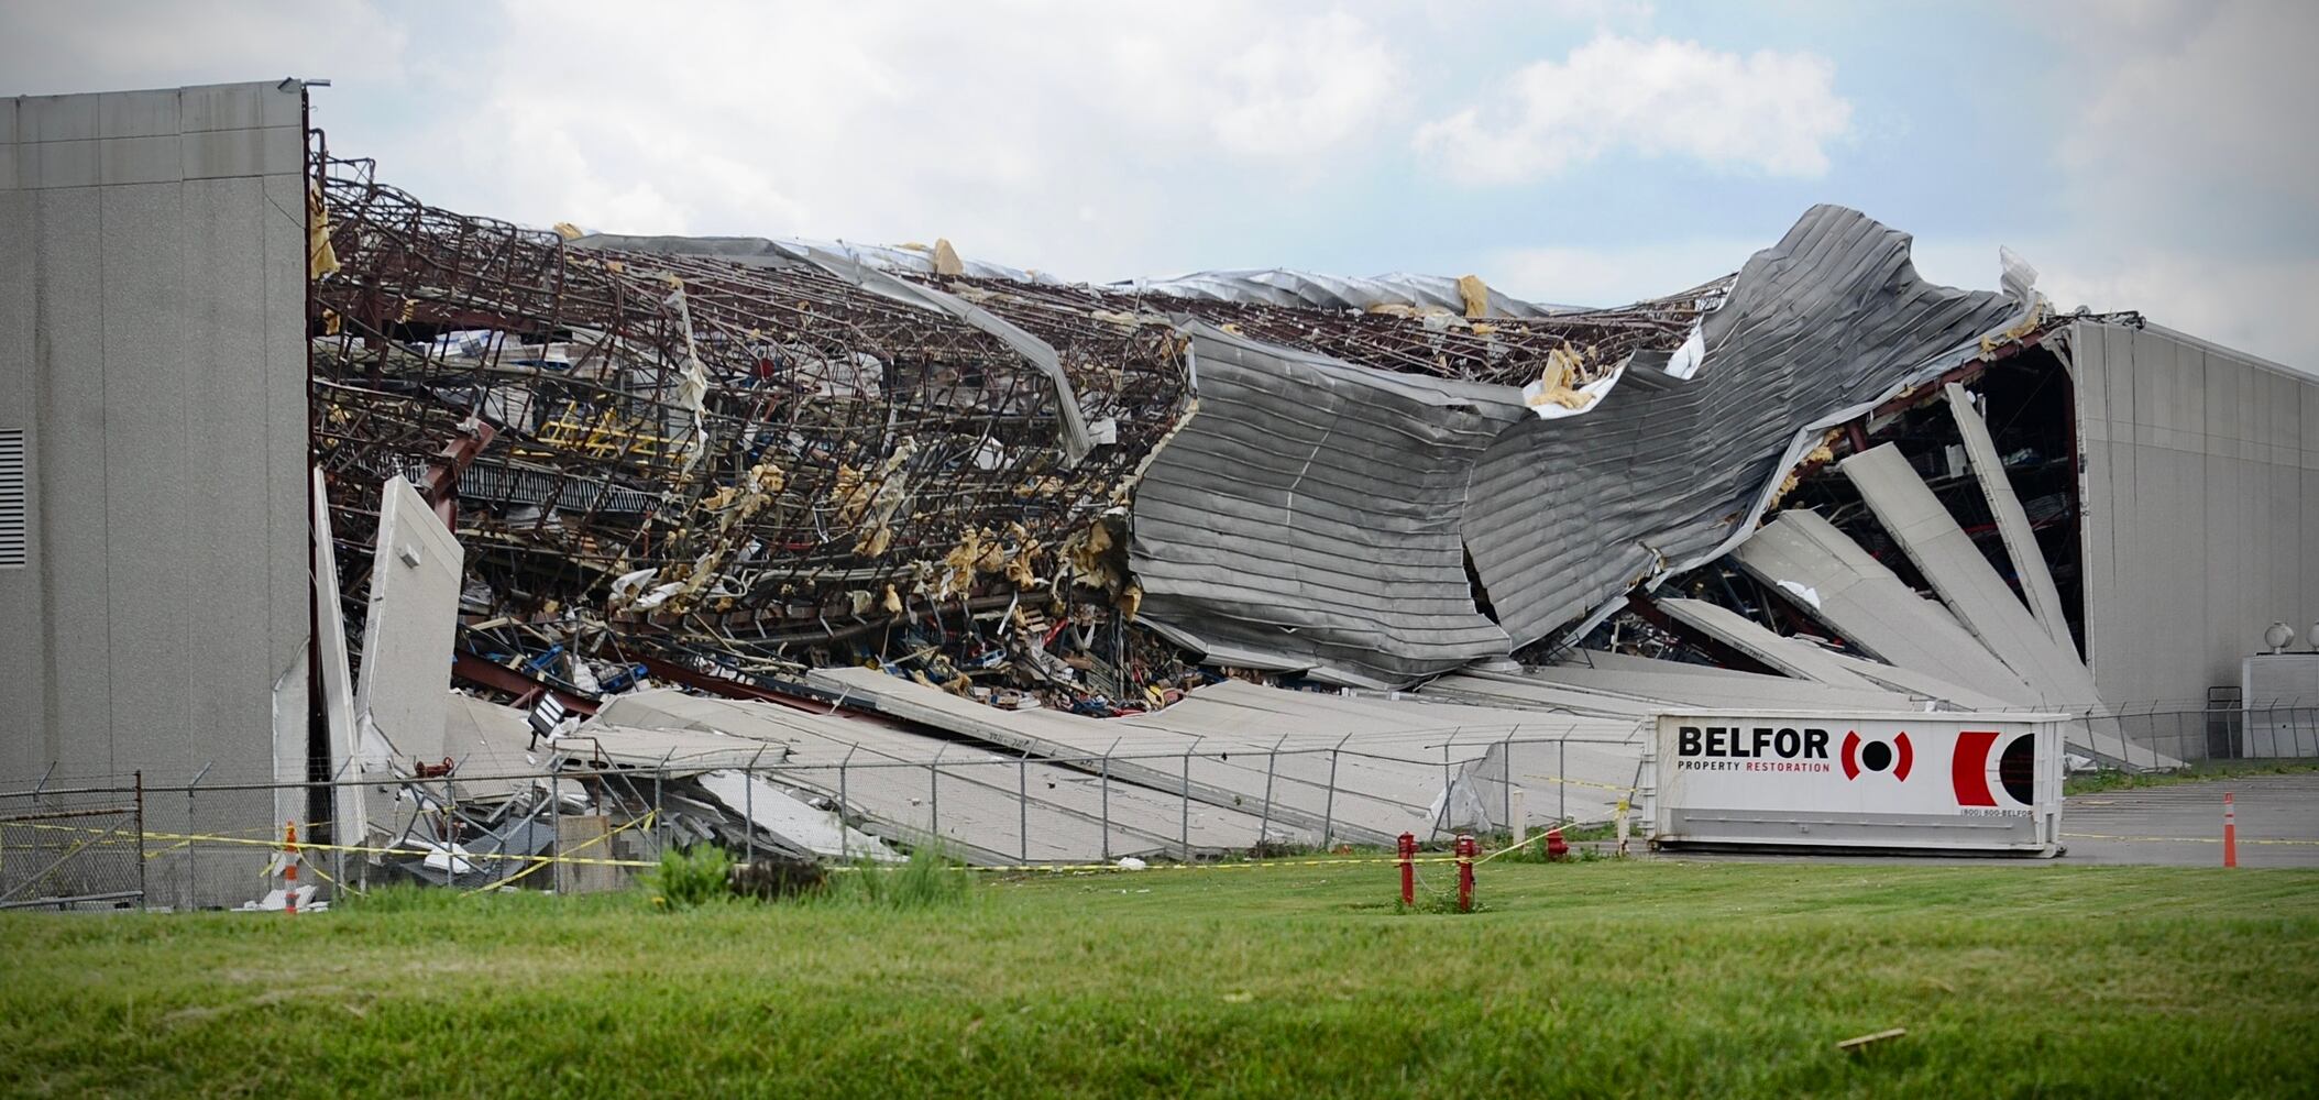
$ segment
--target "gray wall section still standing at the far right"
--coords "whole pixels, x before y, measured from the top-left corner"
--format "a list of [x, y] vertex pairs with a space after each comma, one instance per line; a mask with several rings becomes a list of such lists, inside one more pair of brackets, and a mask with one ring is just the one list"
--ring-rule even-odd
[[2106, 703], [2205, 701], [2319, 620], [2319, 378], [2147, 327], [2066, 334], [2087, 664]]

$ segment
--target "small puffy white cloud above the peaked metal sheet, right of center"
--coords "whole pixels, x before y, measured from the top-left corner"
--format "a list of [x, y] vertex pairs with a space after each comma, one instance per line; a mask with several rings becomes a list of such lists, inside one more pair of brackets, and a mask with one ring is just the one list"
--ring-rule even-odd
[[1813, 53], [1605, 32], [1514, 72], [1498, 102], [1422, 125], [1417, 149], [1463, 183], [1540, 181], [1616, 149], [1813, 179], [1853, 118], [1834, 79]]

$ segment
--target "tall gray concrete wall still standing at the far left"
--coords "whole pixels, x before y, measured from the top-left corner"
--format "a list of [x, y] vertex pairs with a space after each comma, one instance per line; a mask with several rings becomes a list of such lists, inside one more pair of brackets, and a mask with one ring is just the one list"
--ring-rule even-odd
[[[0, 100], [0, 427], [30, 434], [0, 789], [274, 770], [271, 685], [308, 634], [301, 172], [299, 86]], [[253, 859], [204, 854], [209, 896], [155, 859], [155, 900], [248, 898]]]

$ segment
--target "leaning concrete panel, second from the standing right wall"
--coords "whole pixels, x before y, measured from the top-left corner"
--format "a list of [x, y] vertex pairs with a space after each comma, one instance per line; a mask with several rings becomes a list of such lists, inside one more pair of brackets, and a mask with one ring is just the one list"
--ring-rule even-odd
[[2076, 652], [2055, 645], [2052, 634], [2029, 617], [2029, 608], [1997, 576], [1973, 538], [1957, 527], [1915, 466], [1892, 443], [1862, 450], [1839, 464], [1867, 499], [1876, 522], [1915, 562], [1957, 622], [2036, 689], [2052, 708], [2082, 710], [2101, 703], [2094, 673]]

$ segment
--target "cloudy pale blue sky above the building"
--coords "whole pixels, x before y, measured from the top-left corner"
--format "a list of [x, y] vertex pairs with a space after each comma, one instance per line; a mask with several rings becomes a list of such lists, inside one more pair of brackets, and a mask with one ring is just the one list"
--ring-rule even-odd
[[0, 95], [327, 77], [468, 214], [1614, 304], [1813, 202], [2319, 369], [2319, 2], [0, 0]]

